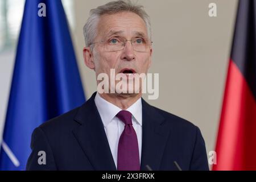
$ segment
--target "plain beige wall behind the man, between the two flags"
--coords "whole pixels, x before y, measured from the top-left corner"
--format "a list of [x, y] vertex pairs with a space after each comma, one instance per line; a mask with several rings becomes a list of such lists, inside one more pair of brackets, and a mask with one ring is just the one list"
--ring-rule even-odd
[[[73, 41], [87, 98], [96, 90], [93, 71], [82, 60], [82, 27], [89, 10], [104, 0], [75, 0]], [[217, 4], [210, 18], [208, 5]], [[154, 55], [150, 73], [159, 73], [159, 98], [148, 101], [199, 126], [214, 150], [232, 44], [237, 0], [140, 0], [151, 16]], [[146, 98], [146, 97], [144, 97]]]

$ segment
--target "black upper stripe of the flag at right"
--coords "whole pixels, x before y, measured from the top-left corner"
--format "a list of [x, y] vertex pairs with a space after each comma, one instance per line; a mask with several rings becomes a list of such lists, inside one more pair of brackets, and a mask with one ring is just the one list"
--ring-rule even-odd
[[256, 1], [240, 0], [231, 58], [256, 100]]

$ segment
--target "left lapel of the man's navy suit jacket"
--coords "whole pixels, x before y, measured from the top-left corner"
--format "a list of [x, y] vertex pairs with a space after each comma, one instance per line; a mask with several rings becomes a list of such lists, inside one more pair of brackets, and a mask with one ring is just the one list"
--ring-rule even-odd
[[82, 105], [75, 121], [80, 124], [73, 134], [95, 170], [116, 170], [108, 139], [93, 96]]

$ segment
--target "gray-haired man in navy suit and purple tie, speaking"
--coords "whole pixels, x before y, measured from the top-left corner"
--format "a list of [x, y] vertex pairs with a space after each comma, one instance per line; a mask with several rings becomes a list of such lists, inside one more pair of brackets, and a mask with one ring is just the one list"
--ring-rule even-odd
[[[98, 90], [84, 105], [34, 130], [28, 170], [177, 170], [174, 162], [183, 170], [209, 169], [199, 128], [148, 105], [141, 82], [129, 82], [150, 68], [150, 30], [146, 12], [129, 1], [91, 11], [84, 61], [96, 72]], [[114, 80], [120, 88], [111, 84], [111, 69], [122, 77]], [[103, 85], [102, 73], [108, 76]]]

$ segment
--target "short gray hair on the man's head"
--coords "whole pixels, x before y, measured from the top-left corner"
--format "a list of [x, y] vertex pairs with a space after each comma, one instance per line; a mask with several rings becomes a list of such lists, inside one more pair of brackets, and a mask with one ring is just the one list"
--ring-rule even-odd
[[84, 26], [85, 45], [89, 47], [97, 36], [97, 26], [100, 16], [104, 14], [115, 14], [122, 11], [130, 11], [139, 15], [146, 24], [147, 34], [151, 40], [151, 23], [150, 16], [144, 11], [143, 6], [135, 5], [130, 0], [112, 1], [105, 5], [98, 6], [96, 9], [90, 10], [90, 16]]

